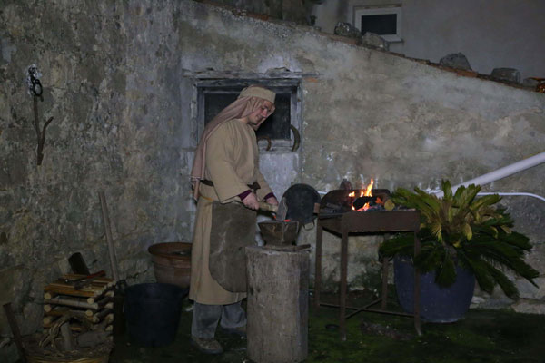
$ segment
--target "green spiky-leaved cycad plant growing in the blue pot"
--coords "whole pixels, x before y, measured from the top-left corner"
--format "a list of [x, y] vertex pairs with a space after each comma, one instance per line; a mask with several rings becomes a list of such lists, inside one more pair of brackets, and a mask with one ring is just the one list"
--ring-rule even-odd
[[[456, 266], [471, 270], [481, 289], [491, 293], [496, 284], [512, 299], [519, 291], [505, 275], [512, 270], [536, 285], [539, 272], [524, 262], [531, 250], [528, 237], [511, 231], [513, 221], [504, 209], [495, 207], [497, 194], [477, 197], [481, 186], [457, 189], [443, 181], [442, 198], [415, 188], [398, 189], [391, 201], [421, 211], [421, 253], [414, 259], [414, 240], [401, 233], [381, 244], [380, 254], [410, 256], [421, 272], [436, 271], [436, 282], [443, 287], [456, 280]], [[537, 285], [536, 285], [537, 286]]]

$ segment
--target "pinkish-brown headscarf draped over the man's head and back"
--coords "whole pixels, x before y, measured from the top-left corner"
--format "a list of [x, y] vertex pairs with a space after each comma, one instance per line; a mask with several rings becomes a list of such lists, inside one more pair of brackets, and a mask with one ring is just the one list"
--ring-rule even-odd
[[[263, 87], [262, 85], [250, 85], [243, 89], [236, 101], [225, 107], [220, 113], [217, 114], [217, 116], [212, 119], [210, 123], [206, 124], [206, 127], [204, 127], [203, 135], [201, 136], [201, 141], [199, 142], [199, 145], [195, 150], [195, 158], [193, 160], [193, 168], [191, 171], [191, 182], [193, 183], [193, 197], [195, 198], [195, 200], [199, 198], [199, 184], [201, 179], [204, 178], [206, 142], [210, 138], [210, 135], [212, 135], [212, 133], [221, 124], [229, 120], [243, 118], [248, 114], [253, 113], [259, 107], [261, 107], [265, 101], [269, 101], [272, 103], [272, 110], [268, 114], [270, 115], [274, 111], [275, 96], [275, 93]], [[265, 119], [263, 119], [263, 121], [265, 121]], [[254, 130], [257, 130], [260, 124], [261, 123], [251, 126]]]

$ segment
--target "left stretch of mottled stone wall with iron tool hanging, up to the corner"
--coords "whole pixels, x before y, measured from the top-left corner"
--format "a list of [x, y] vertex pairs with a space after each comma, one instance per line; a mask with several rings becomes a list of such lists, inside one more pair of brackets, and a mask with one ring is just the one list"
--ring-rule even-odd
[[[148, 246], [191, 236], [173, 3], [2, 2], [0, 302], [12, 301], [24, 334], [40, 327], [44, 285], [70, 271], [72, 253], [111, 276], [99, 190], [129, 283], [153, 279]], [[41, 124], [54, 117], [41, 166], [31, 64]], [[2, 312], [2, 346], [8, 332]], [[14, 352], [1, 348], [0, 361]]]

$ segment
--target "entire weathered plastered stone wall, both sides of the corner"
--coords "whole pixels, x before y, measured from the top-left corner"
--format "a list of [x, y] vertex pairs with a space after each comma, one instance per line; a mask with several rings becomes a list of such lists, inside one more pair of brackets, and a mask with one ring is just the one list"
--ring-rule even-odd
[[[122, 277], [152, 280], [155, 242], [189, 240], [188, 173], [196, 143], [199, 74], [302, 79], [301, 166], [294, 182], [319, 191], [342, 178], [377, 187], [436, 188], [543, 152], [545, 95], [461, 77], [329, 38], [310, 27], [264, 22], [192, 1], [5, 1], [0, 8], [0, 302], [12, 301], [24, 333], [41, 324], [42, 289], [84, 254], [109, 272], [97, 197], [110, 207]], [[36, 166], [26, 69], [42, 72], [45, 159]], [[267, 160], [267, 158], [264, 158]], [[273, 172], [263, 162], [263, 172]], [[544, 195], [544, 166], [486, 191]], [[504, 199], [545, 270], [545, 204]], [[314, 244], [315, 231], [300, 242]], [[351, 238], [352, 289], [374, 289], [381, 239]], [[324, 239], [324, 278], [338, 276], [339, 240]], [[538, 280], [543, 286], [543, 275]], [[543, 311], [540, 290], [518, 282], [516, 309]], [[479, 293], [481, 304], [513, 302]], [[25, 317], [25, 319], [23, 319]], [[0, 314], [0, 360], [15, 356]], [[9, 360], [8, 360], [9, 361]]]

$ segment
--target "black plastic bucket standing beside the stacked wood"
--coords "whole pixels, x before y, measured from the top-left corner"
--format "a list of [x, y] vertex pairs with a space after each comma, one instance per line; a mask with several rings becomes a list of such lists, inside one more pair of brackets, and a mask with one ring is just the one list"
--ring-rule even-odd
[[187, 291], [166, 283], [144, 283], [127, 288], [124, 317], [131, 341], [142, 347], [172, 343]]

